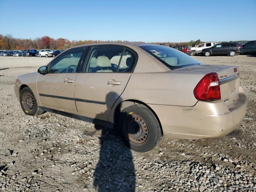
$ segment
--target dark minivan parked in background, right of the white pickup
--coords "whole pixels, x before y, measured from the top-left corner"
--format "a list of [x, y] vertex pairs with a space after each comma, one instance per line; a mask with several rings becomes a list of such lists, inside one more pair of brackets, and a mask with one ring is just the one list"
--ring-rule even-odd
[[240, 44], [239, 43], [218, 43], [210, 48], [203, 49], [202, 52], [205, 56], [210, 55], [229, 55], [235, 56], [240, 54]]

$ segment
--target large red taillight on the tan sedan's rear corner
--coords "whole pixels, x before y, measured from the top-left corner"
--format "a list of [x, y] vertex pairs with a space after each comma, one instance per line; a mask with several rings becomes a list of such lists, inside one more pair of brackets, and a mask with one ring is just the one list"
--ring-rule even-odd
[[216, 73], [206, 74], [194, 88], [197, 100], [212, 101], [220, 99], [220, 82]]

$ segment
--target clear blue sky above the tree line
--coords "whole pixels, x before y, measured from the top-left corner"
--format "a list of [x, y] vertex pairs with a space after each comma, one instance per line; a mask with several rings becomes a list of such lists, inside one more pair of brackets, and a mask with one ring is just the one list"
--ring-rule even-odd
[[69, 40], [256, 40], [256, 0], [0, 0], [0, 34]]

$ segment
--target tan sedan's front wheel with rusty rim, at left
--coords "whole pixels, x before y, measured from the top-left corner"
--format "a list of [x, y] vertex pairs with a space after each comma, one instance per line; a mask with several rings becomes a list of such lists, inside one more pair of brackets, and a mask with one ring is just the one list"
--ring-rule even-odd
[[25, 114], [37, 116], [44, 113], [43, 110], [38, 108], [36, 98], [29, 87], [24, 87], [20, 91], [20, 105]]

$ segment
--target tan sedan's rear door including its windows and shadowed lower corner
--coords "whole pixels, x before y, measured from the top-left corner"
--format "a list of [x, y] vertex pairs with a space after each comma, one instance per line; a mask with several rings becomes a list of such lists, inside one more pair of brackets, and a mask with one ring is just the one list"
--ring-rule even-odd
[[79, 115], [106, 121], [130, 79], [135, 61], [134, 52], [122, 46], [93, 46], [82, 73], [76, 76]]

